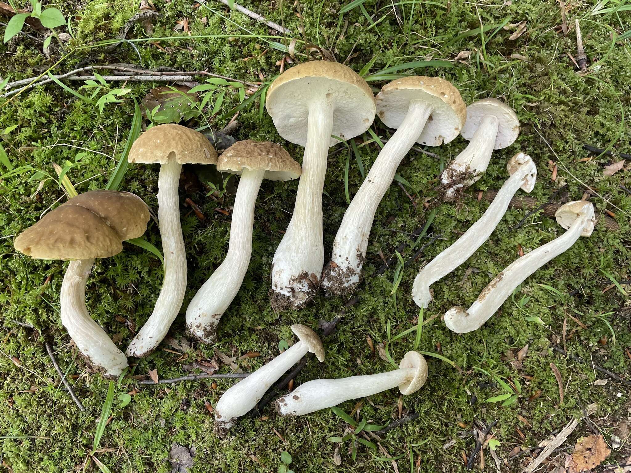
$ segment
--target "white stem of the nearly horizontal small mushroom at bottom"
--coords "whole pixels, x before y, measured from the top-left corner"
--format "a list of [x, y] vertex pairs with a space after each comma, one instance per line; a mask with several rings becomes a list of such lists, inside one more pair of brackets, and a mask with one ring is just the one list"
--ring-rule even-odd
[[276, 400], [276, 411], [281, 416], [302, 416], [310, 412], [337, 406], [358, 397], [366, 397], [401, 383], [411, 382], [416, 375], [414, 368], [379, 373], [377, 375], [351, 376], [332, 380], [312, 380], [301, 384], [284, 397]]

